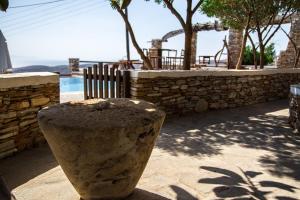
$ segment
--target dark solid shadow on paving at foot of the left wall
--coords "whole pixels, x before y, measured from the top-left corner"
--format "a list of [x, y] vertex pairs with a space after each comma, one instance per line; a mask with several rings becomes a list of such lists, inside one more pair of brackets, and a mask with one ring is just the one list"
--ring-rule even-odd
[[0, 175], [11, 190], [58, 166], [47, 144], [0, 160]]

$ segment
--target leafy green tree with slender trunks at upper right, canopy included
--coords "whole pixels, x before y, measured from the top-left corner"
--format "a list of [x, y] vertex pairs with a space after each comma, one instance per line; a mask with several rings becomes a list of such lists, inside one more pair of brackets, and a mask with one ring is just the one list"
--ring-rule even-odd
[[[205, 0], [202, 6], [202, 10], [208, 16], [220, 18], [229, 27], [246, 29], [243, 47], [247, 37], [250, 38], [249, 31], [256, 32], [260, 49], [260, 68], [265, 64], [266, 46], [281, 25], [299, 9], [299, 0]], [[240, 59], [243, 53], [244, 48]]]

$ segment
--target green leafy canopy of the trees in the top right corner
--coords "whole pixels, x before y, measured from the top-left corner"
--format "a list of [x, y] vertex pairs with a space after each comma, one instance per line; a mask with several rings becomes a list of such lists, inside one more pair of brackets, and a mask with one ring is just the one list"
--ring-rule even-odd
[[202, 12], [209, 17], [219, 18], [223, 24], [243, 29], [248, 16], [251, 14], [250, 24], [264, 24], [271, 17], [300, 10], [299, 0], [204, 0]]

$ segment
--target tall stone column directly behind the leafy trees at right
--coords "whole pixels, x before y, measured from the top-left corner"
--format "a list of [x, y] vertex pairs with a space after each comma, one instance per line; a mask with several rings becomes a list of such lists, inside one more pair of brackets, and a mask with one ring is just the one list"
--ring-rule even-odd
[[229, 29], [228, 48], [230, 51], [230, 68], [235, 68], [242, 50], [243, 31]]

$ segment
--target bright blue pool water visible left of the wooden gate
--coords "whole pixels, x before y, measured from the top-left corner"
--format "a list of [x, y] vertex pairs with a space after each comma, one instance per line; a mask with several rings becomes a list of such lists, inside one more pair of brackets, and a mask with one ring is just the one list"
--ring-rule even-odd
[[61, 77], [60, 92], [83, 92], [83, 77]]

